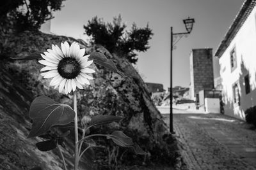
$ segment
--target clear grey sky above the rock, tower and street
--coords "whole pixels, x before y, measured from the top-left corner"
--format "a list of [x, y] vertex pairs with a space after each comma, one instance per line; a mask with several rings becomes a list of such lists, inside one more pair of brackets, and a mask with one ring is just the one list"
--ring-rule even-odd
[[[182, 20], [195, 18], [191, 34], [183, 37], [173, 50], [173, 87], [189, 87], [189, 54], [196, 48], [213, 48], [213, 54], [236, 17], [243, 0], [66, 0], [61, 11], [54, 12], [51, 32], [86, 39], [83, 25], [93, 17], [112, 22], [122, 16], [127, 29], [135, 22], [147, 23], [154, 36], [147, 52], [138, 53], [136, 67], [146, 82], [170, 87], [170, 27], [186, 32]], [[220, 76], [218, 59], [213, 57], [214, 77]]]

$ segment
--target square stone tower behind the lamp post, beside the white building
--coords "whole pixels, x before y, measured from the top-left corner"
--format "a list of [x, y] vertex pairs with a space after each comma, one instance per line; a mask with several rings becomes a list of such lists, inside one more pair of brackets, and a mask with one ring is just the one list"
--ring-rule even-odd
[[193, 49], [190, 54], [190, 87], [191, 99], [198, 101], [200, 90], [214, 88], [212, 48]]

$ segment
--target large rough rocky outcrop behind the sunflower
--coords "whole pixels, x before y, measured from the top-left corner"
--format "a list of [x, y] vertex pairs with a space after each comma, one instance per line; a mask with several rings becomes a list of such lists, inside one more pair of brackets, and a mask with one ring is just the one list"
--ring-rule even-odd
[[[44, 80], [39, 75], [42, 66], [36, 60], [17, 61], [10, 59], [10, 57], [44, 52], [51, 48], [52, 43], [59, 45], [61, 41], [72, 43], [72, 41], [77, 40], [65, 36], [43, 34], [42, 32], [23, 32], [15, 36], [5, 36], [4, 39], [5, 43], [2, 44], [0, 53], [3, 64], [0, 74], [4, 74], [0, 78], [0, 162], [6, 162], [6, 166], [11, 166], [14, 161], [15, 164], [13, 163], [14, 166], [10, 169], [17, 169], [18, 167], [28, 169], [36, 165], [45, 165], [45, 169], [58, 169], [61, 167], [60, 157], [56, 155], [58, 152], [40, 152], [33, 145], [38, 141], [37, 138], [26, 139], [28, 135], [26, 127], [31, 125], [28, 118], [28, 108], [31, 100], [36, 96], [49, 96], [55, 101], [67, 104], [72, 103], [72, 96], [59, 94], [52, 87], [49, 87], [49, 80]], [[111, 124], [109, 127], [100, 127], [92, 129], [92, 131], [108, 132], [110, 131], [108, 129], [121, 129], [141, 148], [147, 150], [150, 156], [136, 156], [132, 155], [131, 151], [127, 152], [120, 149], [119, 156], [116, 156], [118, 163], [128, 164], [127, 162], [130, 161], [138, 164], [169, 164], [174, 166], [176, 158], [179, 157], [177, 143], [169, 134], [161, 114], [150, 99], [145, 83], [134, 67], [125, 57], [112, 55], [100, 45], [88, 46], [81, 40], [78, 42], [83, 48], [86, 48], [86, 53], [104, 53], [126, 75], [126, 77], [122, 77], [102, 66], [94, 65], [97, 73], [93, 74], [95, 79], [91, 81], [92, 85], [85, 90], [79, 90], [78, 111], [80, 120], [83, 115], [93, 116], [97, 114], [124, 117], [120, 124]], [[13, 123], [11, 124], [11, 122]], [[10, 134], [10, 138], [8, 134]], [[109, 145], [109, 143], [104, 144]], [[108, 148], [111, 148], [112, 151], [116, 150], [113, 145]], [[31, 159], [31, 162], [34, 163], [18, 159], [24, 155], [28, 155], [26, 160]], [[108, 155], [105, 156], [105, 159], [109, 159]], [[25, 159], [25, 157], [23, 158]], [[98, 163], [101, 164], [102, 162]]]

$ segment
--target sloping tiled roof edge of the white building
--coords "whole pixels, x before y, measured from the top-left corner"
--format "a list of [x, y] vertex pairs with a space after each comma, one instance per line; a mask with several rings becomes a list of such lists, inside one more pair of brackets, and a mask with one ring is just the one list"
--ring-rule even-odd
[[241, 29], [244, 22], [246, 21], [247, 17], [252, 12], [253, 8], [255, 7], [256, 0], [245, 0], [241, 9], [236, 15], [232, 25], [228, 28], [227, 33], [225, 34], [223, 40], [221, 41], [220, 45], [218, 46], [214, 56], [221, 57], [221, 55], [225, 52], [228, 45], [230, 45], [231, 41], [236, 36], [237, 32]]

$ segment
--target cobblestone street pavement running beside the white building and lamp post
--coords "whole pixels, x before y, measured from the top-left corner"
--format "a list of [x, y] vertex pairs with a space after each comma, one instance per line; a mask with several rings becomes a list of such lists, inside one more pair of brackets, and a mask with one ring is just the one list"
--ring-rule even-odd
[[[169, 115], [164, 115], [168, 122]], [[256, 169], [256, 131], [221, 114], [173, 114], [188, 169]]]

